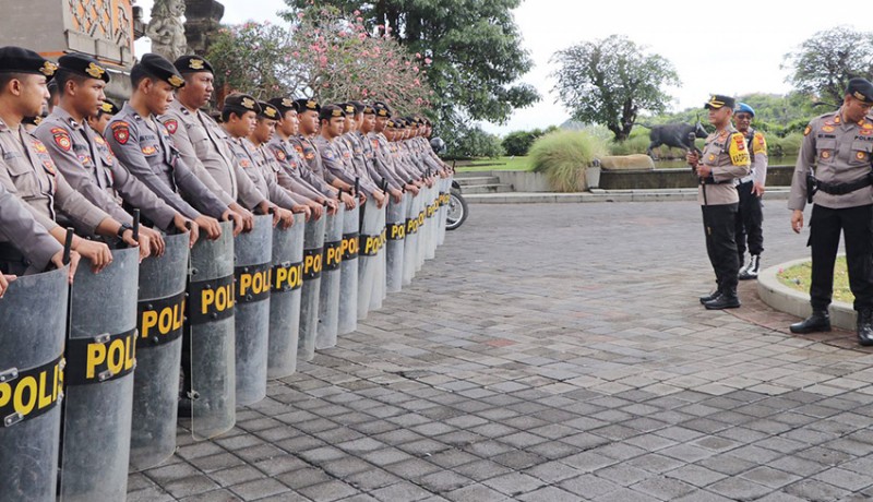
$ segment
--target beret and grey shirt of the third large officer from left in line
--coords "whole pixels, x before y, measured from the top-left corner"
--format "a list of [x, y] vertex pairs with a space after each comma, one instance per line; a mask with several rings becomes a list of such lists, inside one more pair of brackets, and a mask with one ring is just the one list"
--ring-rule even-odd
[[[156, 79], [181, 87], [184, 81], [169, 61], [157, 55], [145, 55], [139, 63]], [[188, 218], [203, 213], [220, 218], [228, 210], [184, 163], [172, 143], [167, 128], [154, 116], [142, 117], [130, 103], [125, 104], [106, 127], [105, 139], [112, 153], [128, 170], [157, 196]], [[184, 193], [192, 207], [179, 192]]]

